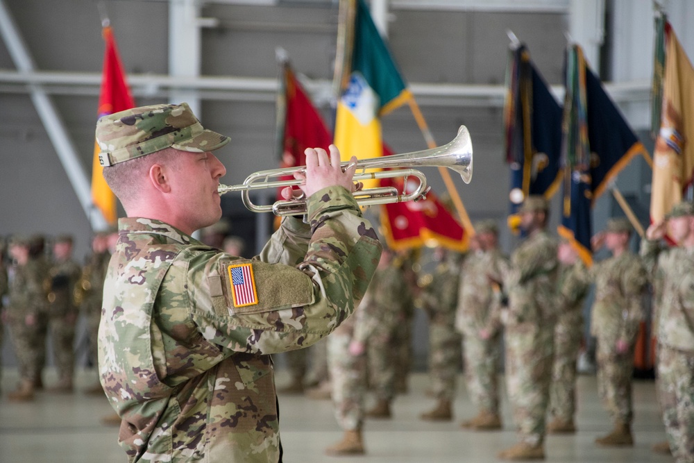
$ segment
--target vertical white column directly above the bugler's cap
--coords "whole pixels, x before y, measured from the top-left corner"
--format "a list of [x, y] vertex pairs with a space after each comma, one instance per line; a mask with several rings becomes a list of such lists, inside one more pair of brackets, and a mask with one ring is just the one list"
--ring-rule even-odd
[[[201, 33], [199, 0], [169, 1], [169, 75], [196, 78], [201, 72]], [[173, 89], [170, 103], [189, 104], [201, 119], [200, 95], [192, 88]]]

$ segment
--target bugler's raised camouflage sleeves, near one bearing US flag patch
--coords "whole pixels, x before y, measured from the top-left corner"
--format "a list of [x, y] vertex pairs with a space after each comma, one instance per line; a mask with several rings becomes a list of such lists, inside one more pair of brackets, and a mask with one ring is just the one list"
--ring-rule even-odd
[[307, 205], [310, 227], [285, 219], [260, 259], [208, 251], [174, 262], [187, 265], [187, 305], [209, 342], [289, 351], [314, 344], [353, 313], [380, 258], [378, 237], [342, 187], [317, 192]]

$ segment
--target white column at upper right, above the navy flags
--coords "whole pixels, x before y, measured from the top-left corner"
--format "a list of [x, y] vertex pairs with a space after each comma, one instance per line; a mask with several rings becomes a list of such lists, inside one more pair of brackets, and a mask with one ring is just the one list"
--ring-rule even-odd
[[604, 0], [571, 0], [569, 34], [579, 44], [591, 68], [600, 65], [600, 45], [604, 40]]

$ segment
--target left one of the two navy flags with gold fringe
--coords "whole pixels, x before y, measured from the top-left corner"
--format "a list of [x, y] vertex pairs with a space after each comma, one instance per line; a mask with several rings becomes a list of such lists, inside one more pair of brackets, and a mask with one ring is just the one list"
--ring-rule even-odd
[[506, 72], [505, 155], [511, 169], [509, 228], [530, 194], [550, 199], [561, 182], [561, 107], [524, 44], [509, 50]]

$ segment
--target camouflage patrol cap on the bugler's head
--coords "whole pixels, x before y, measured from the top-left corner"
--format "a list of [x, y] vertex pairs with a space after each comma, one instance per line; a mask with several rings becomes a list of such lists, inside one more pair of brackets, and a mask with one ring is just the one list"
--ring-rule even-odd
[[230, 138], [200, 124], [187, 103], [141, 106], [105, 115], [96, 121], [99, 162], [108, 167], [162, 149], [192, 153], [214, 151]]

